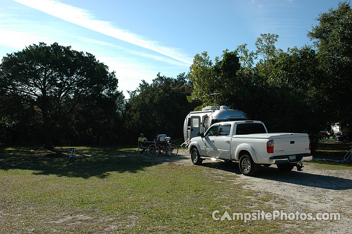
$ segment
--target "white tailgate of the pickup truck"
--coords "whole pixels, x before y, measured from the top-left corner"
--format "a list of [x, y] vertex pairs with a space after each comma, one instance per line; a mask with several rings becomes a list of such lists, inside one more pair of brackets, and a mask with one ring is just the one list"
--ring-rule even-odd
[[274, 156], [309, 153], [308, 134], [277, 134], [274, 139]]

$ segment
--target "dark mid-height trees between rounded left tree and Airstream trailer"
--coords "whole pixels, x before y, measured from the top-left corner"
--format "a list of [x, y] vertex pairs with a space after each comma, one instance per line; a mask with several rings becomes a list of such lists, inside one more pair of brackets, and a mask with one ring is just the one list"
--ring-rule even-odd
[[196, 106], [187, 101], [191, 87], [184, 73], [177, 78], [159, 73], [151, 84], [143, 80], [137, 90], [130, 92], [125, 123], [128, 140], [137, 140], [140, 133], [148, 140], [156, 134], [182, 138], [184, 118]]

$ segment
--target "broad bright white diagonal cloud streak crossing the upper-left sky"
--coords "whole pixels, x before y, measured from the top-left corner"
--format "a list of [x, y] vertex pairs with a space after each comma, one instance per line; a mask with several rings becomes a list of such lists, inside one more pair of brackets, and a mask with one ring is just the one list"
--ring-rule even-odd
[[170, 57], [172, 59], [176, 59], [186, 64], [192, 64], [191, 60], [184, 54], [180, 53], [177, 49], [162, 46], [157, 41], [144, 39], [143, 37], [134, 33], [119, 29], [111, 22], [96, 20], [88, 11], [84, 9], [64, 4], [56, 0], [14, 1], [42, 11], [46, 14], [55, 16], [59, 19], [66, 20], [68, 22], [99, 32], [101, 34], [120, 39], [146, 49], [150, 49], [159, 54]]

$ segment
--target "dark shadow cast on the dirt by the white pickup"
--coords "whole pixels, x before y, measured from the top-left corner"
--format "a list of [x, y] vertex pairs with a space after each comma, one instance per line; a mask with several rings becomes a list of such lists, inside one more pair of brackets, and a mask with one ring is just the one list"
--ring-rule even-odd
[[[204, 167], [215, 168], [221, 171], [226, 171], [240, 175], [238, 163], [234, 162], [207, 162], [202, 164]], [[264, 167], [255, 174], [256, 178], [304, 185], [314, 188], [331, 189], [331, 190], [347, 190], [352, 189], [352, 179], [345, 179], [335, 176], [317, 175], [311, 173], [297, 172], [295, 169], [291, 172], [281, 172], [275, 166]]]

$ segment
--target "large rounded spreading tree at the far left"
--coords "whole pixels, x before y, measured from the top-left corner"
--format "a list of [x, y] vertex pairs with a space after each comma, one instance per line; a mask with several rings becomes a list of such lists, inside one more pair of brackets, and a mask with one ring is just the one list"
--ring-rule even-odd
[[[0, 80], [4, 100], [1, 102], [1, 121], [6, 122], [6, 116], [17, 119], [24, 131], [27, 128], [21, 125], [26, 123], [25, 118], [20, 118], [16, 109], [28, 110], [30, 117], [36, 119], [32, 125], [40, 126], [35, 133], [44, 136], [46, 148], [51, 148], [53, 139], [69, 138], [72, 132], [77, 136], [91, 131], [88, 126], [92, 122], [84, 121], [87, 113], [81, 110], [94, 113], [93, 119], [103, 124], [104, 116], [99, 110], [102, 108], [102, 112], [111, 114], [116, 110], [115, 100], [121, 96], [117, 92], [117, 78], [108, 72], [107, 66], [89, 53], [57, 43], [50, 46], [33, 44], [20, 52], [8, 54], [0, 64]], [[110, 105], [103, 106], [102, 103], [106, 102]], [[16, 107], [9, 103], [16, 104]], [[70, 127], [72, 116], [76, 116], [76, 120], [81, 117], [84, 130], [78, 131], [77, 125]], [[99, 136], [98, 133], [93, 135]]]

